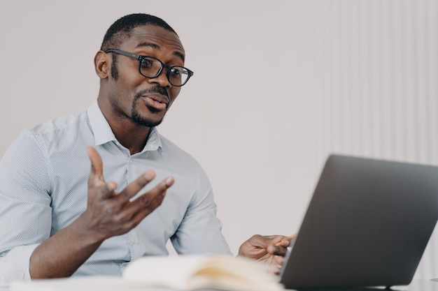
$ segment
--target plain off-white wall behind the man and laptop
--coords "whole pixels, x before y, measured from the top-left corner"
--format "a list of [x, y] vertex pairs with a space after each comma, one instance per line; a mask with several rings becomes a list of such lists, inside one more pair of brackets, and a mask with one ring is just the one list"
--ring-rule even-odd
[[[0, 156], [97, 97], [128, 13], [171, 24], [195, 71], [160, 130], [204, 166], [232, 251], [297, 231], [327, 154], [438, 164], [435, 0], [3, 1]], [[417, 278], [438, 277], [436, 235]]]

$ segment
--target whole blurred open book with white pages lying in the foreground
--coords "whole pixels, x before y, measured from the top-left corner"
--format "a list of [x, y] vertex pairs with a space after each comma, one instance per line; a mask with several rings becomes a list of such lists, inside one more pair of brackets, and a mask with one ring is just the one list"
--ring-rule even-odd
[[280, 291], [283, 286], [262, 262], [231, 255], [182, 255], [134, 260], [122, 277], [73, 277], [10, 285], [10, 291], [38, 290]]

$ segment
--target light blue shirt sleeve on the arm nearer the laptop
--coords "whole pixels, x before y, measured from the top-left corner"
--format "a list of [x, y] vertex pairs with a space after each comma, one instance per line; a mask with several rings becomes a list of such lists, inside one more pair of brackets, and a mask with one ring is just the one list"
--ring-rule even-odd
[[176, 253], [227, 254], [229, 246], [222, 235], [222, 223], [216, 216], [213, 190], [204, 170], [197, 167], [197, 193], [193, 195], [181, 225], [171, 237]]

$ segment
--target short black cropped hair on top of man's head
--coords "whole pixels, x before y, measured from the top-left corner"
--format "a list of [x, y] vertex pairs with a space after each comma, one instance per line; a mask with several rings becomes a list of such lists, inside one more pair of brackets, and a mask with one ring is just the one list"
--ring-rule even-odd
[[[132, 29], [146, 24], [156, 25], [157, 27], [162, 27], [176, 34], [174, 29], [160, 17], [145, 13], [129, 14], [116, 20], [111, 27], [109, 27], [105, 33], [100, 49], [103, 51], [118, 49], [120, 44], [131, 36]], [[178, 36], [178, 34], [176, 34], [176, 36]]]

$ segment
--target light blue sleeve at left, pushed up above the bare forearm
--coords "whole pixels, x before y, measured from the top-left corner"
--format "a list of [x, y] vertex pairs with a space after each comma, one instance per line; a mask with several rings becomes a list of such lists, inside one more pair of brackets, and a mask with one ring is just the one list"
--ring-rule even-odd
[[0, 161], [0, 283], [30, 280], [34, 248], [50, 237], [52, 209], [47, 159], [23, 132]]

